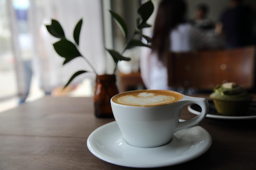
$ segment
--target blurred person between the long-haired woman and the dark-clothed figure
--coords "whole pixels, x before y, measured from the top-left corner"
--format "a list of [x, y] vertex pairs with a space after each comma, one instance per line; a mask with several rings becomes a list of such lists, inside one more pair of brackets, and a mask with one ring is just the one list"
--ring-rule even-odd
[[207, 4], [198, 4], [195, 9], [194, 18], [191, 20], [191, 24], [202, 30], [214, 29], [215, 23], [208, 18], [208, 13], [209, 7]]

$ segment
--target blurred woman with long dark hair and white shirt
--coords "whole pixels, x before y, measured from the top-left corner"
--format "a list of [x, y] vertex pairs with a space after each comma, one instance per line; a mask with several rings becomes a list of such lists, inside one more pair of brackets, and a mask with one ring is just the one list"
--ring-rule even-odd
[[152, 52], [141, 57], [141, 77], [148, 89], [170, 89], [167, 84], [166, 54], [223, 46], [214, 31], [201, 31], [186, 22], [183, 0], [162, 0], [153, 27]]

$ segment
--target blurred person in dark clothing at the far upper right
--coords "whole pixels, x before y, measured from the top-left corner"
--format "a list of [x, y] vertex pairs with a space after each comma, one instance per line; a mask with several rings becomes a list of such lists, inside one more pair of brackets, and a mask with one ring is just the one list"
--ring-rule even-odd
[[243, 0], [230, 0], [220, 18], [227, 48], [254, 44], [253, 16], [252, 8]]

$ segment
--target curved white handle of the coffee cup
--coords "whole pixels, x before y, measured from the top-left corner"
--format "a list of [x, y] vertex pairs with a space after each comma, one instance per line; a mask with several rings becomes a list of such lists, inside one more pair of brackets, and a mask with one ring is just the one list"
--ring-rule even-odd
[[202, 108], [202, 111], [200, 115], [194, 117], [193, 119], [186, 120], [186, 121], [179, 121], [174, 132], [177, 132], [178, 130], [189, 128], [191, 126], [198, 124], [202, 119], [204, 119], [204, 117], [207, 115], [209, 111], [209, 104], [207, 100], [201, 97], [190, 97], [190, 96], [183, 95], [183, 99], [180, 102], [182, 102], [181, 104], [182, 107], [185, 106], [186, 104], [198, 104]]

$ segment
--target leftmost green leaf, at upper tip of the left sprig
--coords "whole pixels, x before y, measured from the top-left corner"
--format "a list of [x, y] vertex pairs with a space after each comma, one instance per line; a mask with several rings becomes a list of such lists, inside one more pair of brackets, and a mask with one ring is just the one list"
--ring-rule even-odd
[[65, 38], [65, 33], [61, 24], [57, 20], [52, 19], [51, 25], [46, 25], [47, 31], [56, 38]]

